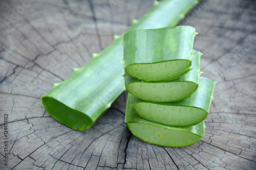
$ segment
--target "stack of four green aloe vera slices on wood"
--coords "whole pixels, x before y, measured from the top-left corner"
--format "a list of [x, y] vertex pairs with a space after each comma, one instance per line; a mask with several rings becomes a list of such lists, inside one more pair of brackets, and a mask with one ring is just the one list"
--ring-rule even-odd
[[133, 30], [122, 42], [127, 99], [125, 123], [138, 138], [185, 147], [204, 137], [216, 82], [200, 77], [202, 53], [189, 26]]

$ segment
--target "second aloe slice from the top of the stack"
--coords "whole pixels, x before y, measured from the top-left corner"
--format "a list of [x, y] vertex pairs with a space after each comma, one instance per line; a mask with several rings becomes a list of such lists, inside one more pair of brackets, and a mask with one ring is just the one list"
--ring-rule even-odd
[[178, 79], [163, 82], [144, 82], [127, 72], [124, 73], [125, 87], [129, 93], [147, 102], [177, 102], [189, 98], [198, 88], [200, 57], [202, 53], [194, 50], [191, 69]]

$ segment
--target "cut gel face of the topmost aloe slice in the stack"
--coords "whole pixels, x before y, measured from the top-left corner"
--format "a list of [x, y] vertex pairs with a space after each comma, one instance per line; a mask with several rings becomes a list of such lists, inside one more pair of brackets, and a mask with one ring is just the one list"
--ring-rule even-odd
[[[190, 69], [190, 60], [171, 60], [158, 63], [132, 64], [125, 71], [139, 80], [162, 81], [173, 80], [186, 74]], [[172, 72], [172, 74], [170, 74]]]

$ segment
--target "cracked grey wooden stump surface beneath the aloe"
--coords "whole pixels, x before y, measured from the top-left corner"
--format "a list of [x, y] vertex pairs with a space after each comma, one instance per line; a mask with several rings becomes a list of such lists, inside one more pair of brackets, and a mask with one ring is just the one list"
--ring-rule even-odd
[[[24, 3], [25, 4], [22, 4]], [[219, 82], [202, 141], [164, 148], [133, 136], [124, 92], [87, 131], [61, 125], [41, 105], [53, 83], [90, 61], [152, 1], [0, 2], [0, 169], [255, 169], [256, 3], [203, 1], [180, 25], [199, 33], [202, 77]], [[26, 8], [25, 8], [25, 7]], [[17, 11], [19, 13], [17, 13]], [[8, 114], [8, 167], [4, 114]]]

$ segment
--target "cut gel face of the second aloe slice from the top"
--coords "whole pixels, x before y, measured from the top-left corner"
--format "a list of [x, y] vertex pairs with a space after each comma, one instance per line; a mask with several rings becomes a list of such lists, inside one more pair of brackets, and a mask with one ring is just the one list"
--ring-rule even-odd
[[147, 102], [177, 102], [189, 98], [198, 88], [194, 82], [134, 82], [127, 91]]

